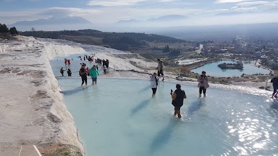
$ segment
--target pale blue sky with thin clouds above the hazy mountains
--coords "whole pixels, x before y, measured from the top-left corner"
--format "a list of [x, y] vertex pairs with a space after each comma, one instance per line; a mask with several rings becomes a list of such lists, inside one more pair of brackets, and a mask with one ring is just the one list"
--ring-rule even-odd
[[277, 5], [278, 1], [252, 0], [0, 0], [0, 23], [81, 16], [95, 24], [107, 24], [163, 15], [208, 17], [220, 12], [260, 13], [278, 8]]

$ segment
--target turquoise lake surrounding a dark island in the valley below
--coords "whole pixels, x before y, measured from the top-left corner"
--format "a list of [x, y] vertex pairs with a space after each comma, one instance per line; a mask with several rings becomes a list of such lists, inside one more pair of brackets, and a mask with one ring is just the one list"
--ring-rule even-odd
[[197, 69], [193, 69], [191, 71], [195, 73], [202, 73], [202, 71], [206, 71], [207, 76], [215, 76], [215, 77], [232, 77], [232, 76], [241, 76], [243, 73], [247, 75], [263, 73], [269, 74], [270, 71], [268, 69], [258, 68], [254, 66], [254, 62], [243, 62], [243, 70], [239, 69], [220, 69], [218, 64], [221, 63], [236, 63], [234, 61], [224, 60], [219, 62], [213, 62], [210, 64], [205, 64], [202, 67]]

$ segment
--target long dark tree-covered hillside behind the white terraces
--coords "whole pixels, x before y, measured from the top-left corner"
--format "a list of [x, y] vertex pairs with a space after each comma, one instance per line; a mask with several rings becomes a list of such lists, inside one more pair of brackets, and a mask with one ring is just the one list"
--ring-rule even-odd
[[184, 43], [185, 40], [179, 40], [174, 37], [163, 35], [145, 34], [145, 33], [108, 33], [96, 30], [79, 31], [26, 31], [20, 35], [65, 39], [83, 44], [105, 45], [121, 51], [129, 51], [143, 47], [149, 47], [152, 43]]

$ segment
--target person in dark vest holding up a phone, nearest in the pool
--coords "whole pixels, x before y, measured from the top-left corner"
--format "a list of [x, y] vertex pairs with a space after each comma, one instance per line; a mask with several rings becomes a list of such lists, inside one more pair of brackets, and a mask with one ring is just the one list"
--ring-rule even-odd
[[176, 90], [174, 94], [171, 89], [172, 96], [172, 105], [174, 105], [174, 116], [178, 115], [179, 119], [181, 118], [181, 106], [183, 105], [183, 98], [186, 98], [186, 92], [181, 90], [181, 85], [176, 85]]

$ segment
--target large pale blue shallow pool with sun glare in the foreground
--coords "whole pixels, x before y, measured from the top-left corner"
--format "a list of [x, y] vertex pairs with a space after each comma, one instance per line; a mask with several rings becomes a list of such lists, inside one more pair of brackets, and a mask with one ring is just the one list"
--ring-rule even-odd
[[[91, 83], [91, 80], [88, 79]], [[278, 101], [244, 92], [182, 84], [188, 96], [174, 117], [170, 89], [160, 83], [155, 98], [147, 80], [58, 78], [88, 156], [275, 155]], [[89, 83], [89, 84], [90, 84]]]

